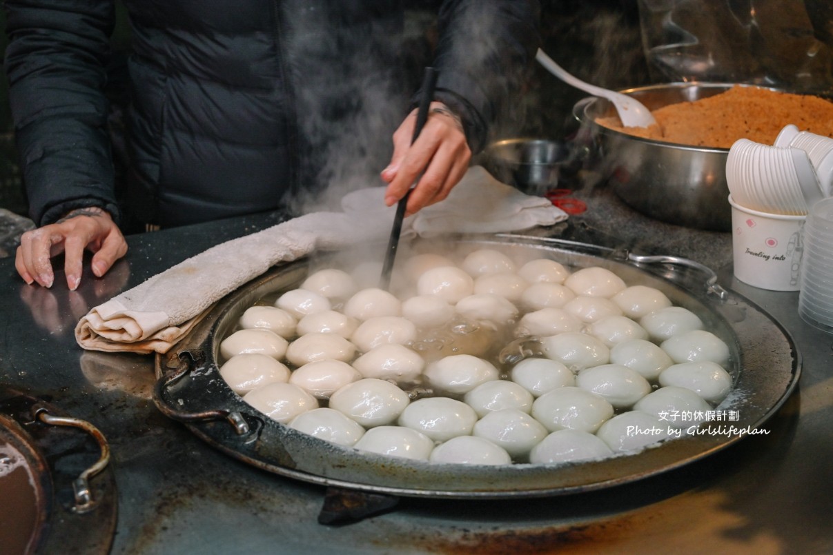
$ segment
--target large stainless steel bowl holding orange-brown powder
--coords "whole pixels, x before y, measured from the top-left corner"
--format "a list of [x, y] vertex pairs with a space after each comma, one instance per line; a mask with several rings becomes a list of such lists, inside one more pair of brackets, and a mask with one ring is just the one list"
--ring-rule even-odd
[[[711, 97], [732, 83], [670, 83], [621, 91], [651, 110]], [[727, 148], [684, 146], [613, 131], [596, 117], [614, 113], [596, 97], [576, 103], [573, 116], [589, 129], [601, 171], [628, 205], [656, 220], [702, 230], [731, 230], [726, 186]]]

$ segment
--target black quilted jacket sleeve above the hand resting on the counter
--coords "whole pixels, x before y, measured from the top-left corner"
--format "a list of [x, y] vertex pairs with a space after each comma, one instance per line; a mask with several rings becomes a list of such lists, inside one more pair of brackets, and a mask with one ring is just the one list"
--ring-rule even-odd
[[102, 206], [117, 217], [103, 92], [112, 0], [7, 0], [9, 82], [30, 215]]

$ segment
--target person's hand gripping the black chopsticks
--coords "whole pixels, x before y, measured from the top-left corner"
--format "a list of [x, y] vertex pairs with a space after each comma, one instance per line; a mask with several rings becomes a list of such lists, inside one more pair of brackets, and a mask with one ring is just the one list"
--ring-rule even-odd
[[387, 206], [393, 206], [405, 196], [422, 173], [408, 198], [406, 216], [446, 198], [465, 175], [471, 160], [471, 149], [460, 119], [445, 104], [431, 102], [425, 126], [412, 145], [415, 125], [416, 110], [393, 134], [391, 163], [382, 170], [382, 179], [388, 184]]

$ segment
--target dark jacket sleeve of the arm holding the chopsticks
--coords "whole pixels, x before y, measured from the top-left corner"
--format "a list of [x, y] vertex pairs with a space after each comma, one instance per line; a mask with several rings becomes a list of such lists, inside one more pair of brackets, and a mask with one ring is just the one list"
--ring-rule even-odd
[[535, 56], [541, 6], [536, 0], [446, 0], [440, 8], [436, 100], [461, 116], [473, 152]]

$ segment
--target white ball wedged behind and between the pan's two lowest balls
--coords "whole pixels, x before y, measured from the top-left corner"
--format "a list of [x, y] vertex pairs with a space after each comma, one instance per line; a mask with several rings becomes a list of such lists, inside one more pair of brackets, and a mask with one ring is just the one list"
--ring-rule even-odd
[[496, 410], [486, 414], [474, 425], [472, 434], [488, 439], [506, 450], [512, 458], [525, 460], [541, 439], [546, 428], [529, 414], [517, 409]]

